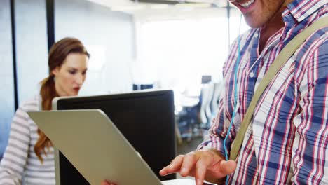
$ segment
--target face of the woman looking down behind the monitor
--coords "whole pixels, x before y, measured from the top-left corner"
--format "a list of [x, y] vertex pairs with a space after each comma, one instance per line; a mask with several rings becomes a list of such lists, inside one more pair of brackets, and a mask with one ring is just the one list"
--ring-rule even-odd
[[76, 96], [86, 80], [88, 57], [81, 53], [70, 53], [60, 67], [53, 69], [55, 89], [60, 96]]

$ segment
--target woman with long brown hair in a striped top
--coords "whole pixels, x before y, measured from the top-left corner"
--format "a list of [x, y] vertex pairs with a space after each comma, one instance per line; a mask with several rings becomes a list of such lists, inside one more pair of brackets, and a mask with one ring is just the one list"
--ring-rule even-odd
[[20, 105], [13, 118], [0, 184], [55, 184], [53, 144], [26, 112], [50, 110], [54, 97], [78, 95], [89, 57], [78, 39], [64, 38], [51, 47], [50, 74], [41, 81], [40, 95]]

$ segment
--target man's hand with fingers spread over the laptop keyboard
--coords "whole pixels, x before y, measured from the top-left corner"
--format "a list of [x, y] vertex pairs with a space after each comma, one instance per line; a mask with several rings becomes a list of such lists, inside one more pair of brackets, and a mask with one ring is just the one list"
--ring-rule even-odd
[[214, 149], [193, 151], [177, 156], [170, 165], [160, 170], [160, 175], [165, 176], [177, 172], [182, 177], [195, 177], [196, 185], [202, 185], [204, 180], [217, 183], [219, 179], [224, 179], [226, 175], [234, 172], [236, 166], [235, 161], [226, 161]]

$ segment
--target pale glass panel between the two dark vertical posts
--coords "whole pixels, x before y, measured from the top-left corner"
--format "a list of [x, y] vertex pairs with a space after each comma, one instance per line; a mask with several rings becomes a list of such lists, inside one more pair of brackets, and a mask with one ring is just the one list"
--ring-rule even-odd
[[46, 1], [15, 1], [18, 102], [39, 94], [39, 82], [48, 76]]

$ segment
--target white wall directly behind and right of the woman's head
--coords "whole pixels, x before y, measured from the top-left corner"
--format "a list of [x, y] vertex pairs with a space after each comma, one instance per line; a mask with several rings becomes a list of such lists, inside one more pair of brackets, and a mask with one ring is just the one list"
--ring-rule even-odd
[[132, 90], [135, 57], [132, 17], [81, 0], [55, 1], [55, 40], [80, 39], [90, 52], [90, 70], [80, 95]]

